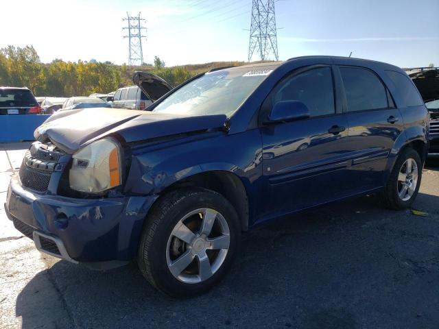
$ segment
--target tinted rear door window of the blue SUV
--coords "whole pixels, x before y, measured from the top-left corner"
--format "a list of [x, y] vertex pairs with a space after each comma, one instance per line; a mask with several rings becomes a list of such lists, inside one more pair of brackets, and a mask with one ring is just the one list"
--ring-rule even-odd
[[375, 73], [358, 67], [340, 67], [348, 112], [388, 108], [387, 92]]

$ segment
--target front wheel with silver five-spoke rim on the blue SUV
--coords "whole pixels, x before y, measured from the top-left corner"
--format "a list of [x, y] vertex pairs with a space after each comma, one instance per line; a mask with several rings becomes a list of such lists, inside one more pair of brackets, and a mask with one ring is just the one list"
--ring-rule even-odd
[[235, 209], [219, 193], [204, 188], [171, 191], [147, 217], [139, 268], [168, 295], [198, 295], [224, 277], [237, 254], [240, 233]]

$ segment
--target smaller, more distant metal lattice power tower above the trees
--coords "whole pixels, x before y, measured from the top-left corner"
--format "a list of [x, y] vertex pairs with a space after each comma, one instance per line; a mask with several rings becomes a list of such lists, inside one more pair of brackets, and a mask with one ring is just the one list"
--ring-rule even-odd
[[128, 21], [128, 27], [123, 27], [123, 29], [128, 29], [128, 36], [123, 36], [123, 38], [128, 38], [130, 44], [128, 65], [142, 65], [142, 38], [146, 38], [146, 36], [142, 35], [142, 29], [146, 31], [146, 27], [141, 25], [141, 21], [145, 21], [145, 19], [141, 18], [140, 12], [137, 16], [130, 16], [127, 12], [126, 16], [127, 18], [123, 19], [123, 21]]

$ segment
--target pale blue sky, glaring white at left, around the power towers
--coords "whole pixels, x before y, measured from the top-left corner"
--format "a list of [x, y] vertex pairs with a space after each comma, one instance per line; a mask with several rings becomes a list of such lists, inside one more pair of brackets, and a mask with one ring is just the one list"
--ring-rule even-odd
[[[0, 47], [34, 45], [43, 62], [128, 62], [122, 18], [146, 19], [144, 62], [247, 60], [251, 0], [20, 0], [1, 4]], [[439, 66], [439, 0], [280, 0], [279, 59], [304, 55]], [[254, 56], [252, 60], [258, 60]]]

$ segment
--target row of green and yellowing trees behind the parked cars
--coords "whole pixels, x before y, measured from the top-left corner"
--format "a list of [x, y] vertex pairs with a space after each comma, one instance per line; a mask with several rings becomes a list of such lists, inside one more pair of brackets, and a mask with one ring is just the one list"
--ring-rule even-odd
[[87, 96], [91, 93], [110, 93], [132, 84], [134, 71], [150, 71], [172, 86], [177, 86], [196, 71], [184, 66], [165, 67], [165, 62], [154, 58], [154, 64], [143, 66], [115, 65], [111, 62], [40, 61], [33, 46], [8, 46], [0, 49], [0, 86], [27, 86], [36, 96]]

